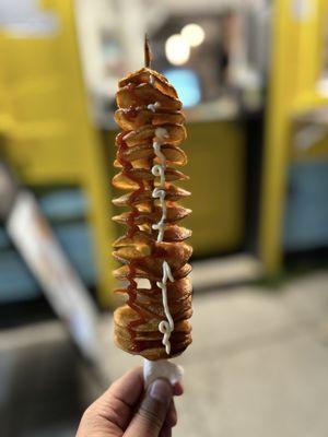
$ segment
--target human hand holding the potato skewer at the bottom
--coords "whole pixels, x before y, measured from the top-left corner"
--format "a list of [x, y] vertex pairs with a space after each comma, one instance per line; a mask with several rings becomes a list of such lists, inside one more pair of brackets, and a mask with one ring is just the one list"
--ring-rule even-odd
[[169, 437], [177, 423], [173, 395], [183, 394], [165, 379], [144, 392], [142, 368], [128, 371], [82, 416], [77, 437]]

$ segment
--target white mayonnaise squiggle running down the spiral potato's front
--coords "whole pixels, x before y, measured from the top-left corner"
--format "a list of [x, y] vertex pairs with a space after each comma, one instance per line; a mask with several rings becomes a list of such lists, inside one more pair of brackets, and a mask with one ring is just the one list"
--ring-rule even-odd
[[[166, 220], [166, 203], [165, 203], [165, 168], [166, 168], [166, 157], [161, 151], [161, 145], [165, 141], [165, 138], [167, 138], [167, 130], [164, 128], [157, 128], [155, 130], [155, 137], [156, 140], [153, 142], [153, 149], [155, 152], [155, 155], [160, 158], [160, 164], [155, 164], [152, 167], [152, 174], [155, 177], [160, 178], [160, 186], [154, 188], [152, 192], [152, 197], [154, 199], [160, 199], [160, 204], [162, 208], [162, 217], [159, 223], [153, 224], [152, 228], [159, 231], [157, 234], [157, 243], [163, 241], [164, 237], [164, 227], [165, 227], [165, 220]], [[167, 279], [171, 282], [174, 282], [173, 274], [171, 272], [171, 268], [167, 263], [167, 261], [163, 261], [163, 277], [162, 282], [156, 282], [156, 285], [159, 288], [162, 290], [162, 298], [163, 298], [163, 307], [164, 307], [164, 314], [166, 317], [166, 320], [162, 320], [159, 324], [159, 331], [163, 334], [163, 345], [165, 346], [166, 354], [169, 355], [171, 352], [171, 343], [169, 343], [169, 336], [171, 333], [174, 330], [174, 321], [169, 312], [168, 304], [167, 304]]]

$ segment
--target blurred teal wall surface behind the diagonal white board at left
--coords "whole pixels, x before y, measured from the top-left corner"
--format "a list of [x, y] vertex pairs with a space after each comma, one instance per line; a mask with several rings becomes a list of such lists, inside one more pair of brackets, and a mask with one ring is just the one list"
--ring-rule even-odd
[[[95, 281], [91, 229], [84, 221], [86, 201], [78, 189], [62, 189], [43, 194], [39, 204], [68, 258], [83, 282]], [[0, 228], [0, 304], [31, 300], [42, 291], [24, 261]]]

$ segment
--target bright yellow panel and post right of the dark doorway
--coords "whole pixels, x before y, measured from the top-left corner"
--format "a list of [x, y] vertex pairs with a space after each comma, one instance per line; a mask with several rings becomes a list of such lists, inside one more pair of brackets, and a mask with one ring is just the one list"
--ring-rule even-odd
[[286, 173], [297, 113], [327, 103], [317, 81], [323, 69], [323, 11], [327, 0], [276, 0], [260, 208], [259, 256], [269, 274], [282, 263]]

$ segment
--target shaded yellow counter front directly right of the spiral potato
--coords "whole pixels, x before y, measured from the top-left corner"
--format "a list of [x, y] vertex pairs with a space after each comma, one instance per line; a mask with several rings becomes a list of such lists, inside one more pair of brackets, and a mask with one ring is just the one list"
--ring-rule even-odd
[[192, 214], [184, 225], [192, 229], [196, 256], [230, 251], [242, 245], [245, 223], [245, 133], [238, 121], [187, 126], [184, 144], [192, 192], [185, 204]]

